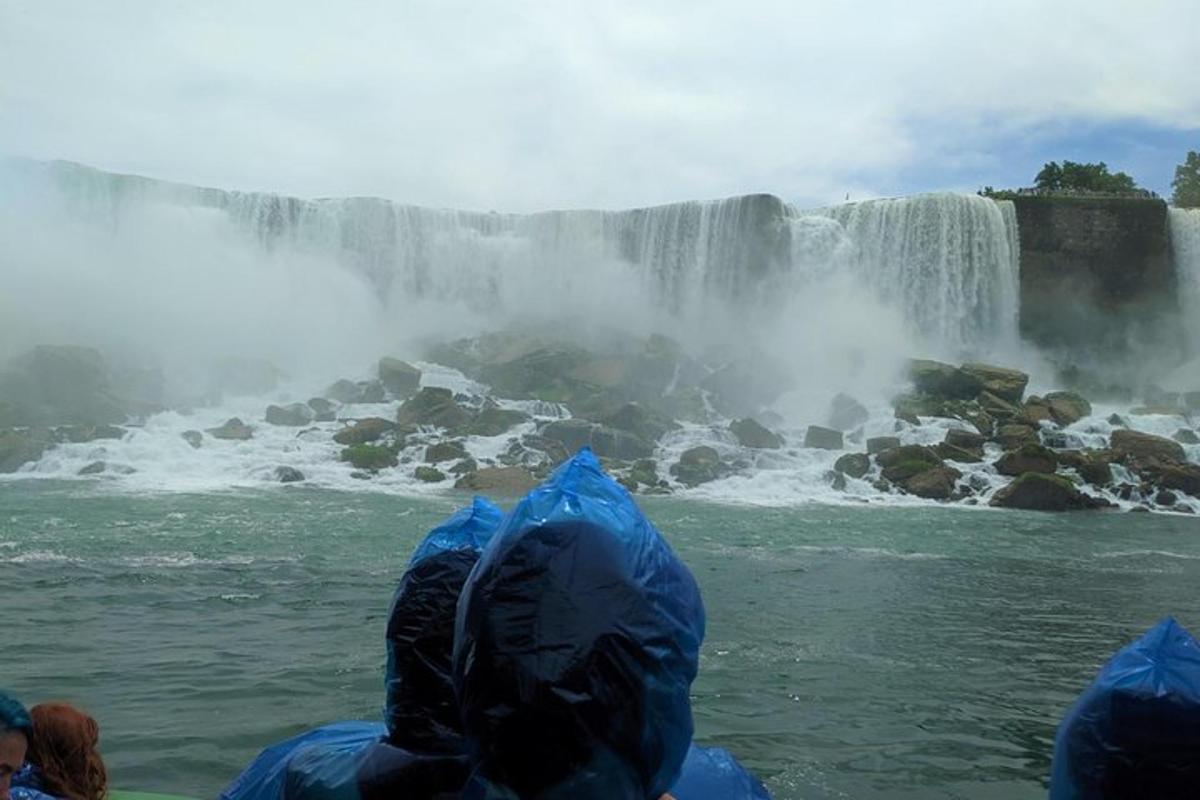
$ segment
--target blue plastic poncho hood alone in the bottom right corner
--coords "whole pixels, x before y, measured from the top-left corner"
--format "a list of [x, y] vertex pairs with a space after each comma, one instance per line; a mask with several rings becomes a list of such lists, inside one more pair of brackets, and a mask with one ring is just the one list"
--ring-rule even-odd
[[1117, 652], [1063, 717], [1050, 800], [1200, 796], [1200, 646], [1171, 618]]

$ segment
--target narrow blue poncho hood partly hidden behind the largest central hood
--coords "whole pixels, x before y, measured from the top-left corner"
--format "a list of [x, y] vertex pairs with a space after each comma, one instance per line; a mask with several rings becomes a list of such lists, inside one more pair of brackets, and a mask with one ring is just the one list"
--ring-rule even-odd
[[413, 752], [464, 751], [450, 654], [455, 606], [504, 512], [484, 498], [418, 545], [388, 612], [389, 741]]

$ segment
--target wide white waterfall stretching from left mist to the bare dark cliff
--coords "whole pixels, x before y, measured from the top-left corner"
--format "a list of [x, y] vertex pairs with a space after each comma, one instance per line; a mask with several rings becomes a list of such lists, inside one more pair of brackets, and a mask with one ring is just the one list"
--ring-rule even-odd
[[1016, 337], [1015, 213], [960, 194], [804, 211], [768, 194], [626, 211], [530, 215], [424, 209], [377, 198], [299, 199], [20, 162], [73, 212], [120, 228], [154, 204], [216, 212], [268, 251], [332, 257], [385, 306], [412, 300], [522, 311], [644, 303], [703, 327], [757, 321], [820, 281], [852, 275], [911, 331], [953, 351]]

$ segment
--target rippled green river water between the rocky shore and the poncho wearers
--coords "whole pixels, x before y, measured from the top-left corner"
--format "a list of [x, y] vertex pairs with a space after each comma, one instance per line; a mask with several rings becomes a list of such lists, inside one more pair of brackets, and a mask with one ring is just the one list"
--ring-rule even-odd
[[[0, 685], [88, 706], [118, 786], [212, 796], [277, 739], [378, 717], [392, 587], [463, 500], [0, 485]], [[1099, 663], [1200, 626], [1195, 519], [643, 507], [708, 606], [697, 734], [780, 800], [1044, 796]]]

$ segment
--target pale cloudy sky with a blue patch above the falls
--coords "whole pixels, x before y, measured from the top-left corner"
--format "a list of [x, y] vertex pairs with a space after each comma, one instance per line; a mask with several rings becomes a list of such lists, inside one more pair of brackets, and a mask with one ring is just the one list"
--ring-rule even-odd
[[1168, 193], [1198, 74], [1196, 0], [0, 0], [0, 154], [512, 211]]

